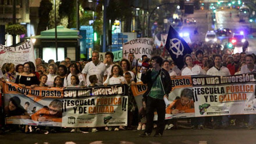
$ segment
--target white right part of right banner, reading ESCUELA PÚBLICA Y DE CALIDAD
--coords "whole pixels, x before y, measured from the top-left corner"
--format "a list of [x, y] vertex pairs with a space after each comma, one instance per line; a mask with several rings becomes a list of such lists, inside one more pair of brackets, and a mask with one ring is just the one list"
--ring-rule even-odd
[[256, 114], [255, 76], [192, 77], [195, 116]]

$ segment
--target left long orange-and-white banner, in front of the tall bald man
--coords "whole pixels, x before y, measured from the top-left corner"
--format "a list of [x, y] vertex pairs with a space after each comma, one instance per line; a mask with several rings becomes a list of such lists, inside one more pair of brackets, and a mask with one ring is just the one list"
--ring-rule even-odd
[[[3, 83], [7, 124], [58, 127], [126, 126], [127, 86], [123, 84], [89, 88], [22, 88]], [[16, 109], [9, 109], [17, 102]], [[25, 103], [29, 102], [27, 110]], [[27, 114], [27, 113], [28, 114]]]

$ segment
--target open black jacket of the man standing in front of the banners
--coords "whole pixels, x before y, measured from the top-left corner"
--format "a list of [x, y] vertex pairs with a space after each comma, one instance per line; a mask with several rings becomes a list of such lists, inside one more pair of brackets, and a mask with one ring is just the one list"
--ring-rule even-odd
[[[164, 70], [162, 68], [161, 70], [159, 70], [158, 77], [159, 76], [161, 77], [161, 81], [163, 83], [163, 89], [164, 89], [163, 95], [165, 95], [165, 94], [168, 95], [170, 93], [170, 91], [172, 90], [170, 75], [166, 70]], [[150, 94], [150, 90], [154, 83], [154, 81], [152, 79], [154, 79], [154, 78], [151, 77], [151, 70], [148, 70], [145, 74], [141, 75], [141, 81], [144, 84], [147, 84], [147, 91], [143, 94], [143, 97], [147, 97]]]

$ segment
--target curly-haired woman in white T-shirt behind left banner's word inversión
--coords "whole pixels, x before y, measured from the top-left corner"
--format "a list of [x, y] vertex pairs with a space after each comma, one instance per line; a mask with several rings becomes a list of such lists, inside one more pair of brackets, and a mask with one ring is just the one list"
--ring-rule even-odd
[[104, 86], [113, 85], [113, 84], [124, 84], [126, 83], [125, 77], [123, 75], [123, 70], [120, 65], [113, 65], [111, 69], [111, 75], [107, 77], [106, 81], [104, 81]]

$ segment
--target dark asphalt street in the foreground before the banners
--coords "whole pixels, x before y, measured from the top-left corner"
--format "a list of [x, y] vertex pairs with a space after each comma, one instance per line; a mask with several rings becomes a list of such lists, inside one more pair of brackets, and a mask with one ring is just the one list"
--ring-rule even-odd
[[0, 135], [1, 144], [253, 144], [255, 143], [255, 130], [247, 129], [178, 129], [166, 130], [162, 137], [140, 137], [142, 131], [99, 131], [84, 134], [62, 132], [56, 134], [23, 134], [9, 132]]

